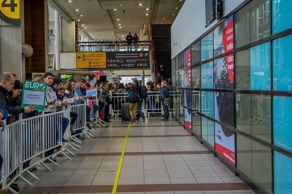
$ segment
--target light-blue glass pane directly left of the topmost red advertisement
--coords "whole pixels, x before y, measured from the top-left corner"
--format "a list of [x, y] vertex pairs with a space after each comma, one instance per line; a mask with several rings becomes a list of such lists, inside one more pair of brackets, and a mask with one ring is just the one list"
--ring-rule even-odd
[[201, 39], [201, 61], [206, 61], [213, 57], [213, 31]]

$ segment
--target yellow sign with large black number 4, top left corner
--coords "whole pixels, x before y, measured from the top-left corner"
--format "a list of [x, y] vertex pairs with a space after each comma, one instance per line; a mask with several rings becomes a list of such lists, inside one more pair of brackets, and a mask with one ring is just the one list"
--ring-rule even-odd
[[20, 19], [19, 0], [0, 0], [0, 11], [11, 19]]

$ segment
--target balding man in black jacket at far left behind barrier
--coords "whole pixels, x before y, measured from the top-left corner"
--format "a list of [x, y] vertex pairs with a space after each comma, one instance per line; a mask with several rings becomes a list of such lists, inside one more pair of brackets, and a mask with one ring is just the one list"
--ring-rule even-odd
[[7, 110], [8, 114], [18, 115], [20, 113], [33, 112], [32, 106], [21, 108], [20, 106], [12, 106], [12, 100], [9, 92], [14, 87], [14, 76], [9, 72], [4, 72], [0, 76], [0, 107]]

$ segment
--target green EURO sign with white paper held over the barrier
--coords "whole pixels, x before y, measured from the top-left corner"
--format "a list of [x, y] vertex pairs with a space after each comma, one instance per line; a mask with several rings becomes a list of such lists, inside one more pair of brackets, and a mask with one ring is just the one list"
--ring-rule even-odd
[[33, 110], [44, 111], [47, 83], [24, 81], [21, 107], [34, 106]]

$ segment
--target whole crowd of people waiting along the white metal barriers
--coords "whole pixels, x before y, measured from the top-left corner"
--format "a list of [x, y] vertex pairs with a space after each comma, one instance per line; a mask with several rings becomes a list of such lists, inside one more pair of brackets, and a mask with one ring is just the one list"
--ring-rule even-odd
[[[49, 113], [57, 113], [63, 110], [63, 107], [68, 107], [69, 104], [65, 100], [66, 98], [73, 98], [74, 105], [85, 103], [86, 100], [89, 103], [86, 105], [86, 127], [88, 129], [92, 129], [92, 125], [94, 121], [91, 120], [91, 110], [93, 110], [93, 114], [95, 115], [99, 111], [99, 115], [96, 116], [98, 119], [102, 119], [104, 122], [111, 122], [110, 119], [114, 113], [117, 113], [121, 109], [123, 103], [129, 103], [129, 111], [131, 115], [131, 121], [136, 122], [139, 121], [140, 117], [142, 117], [142, 121], [146, 120], [146, 114], [143, 113], [143, 106], [147, 107], [147, 110], [155, 107], [151, 107], [151, 100], [149, 101], [149, 97], [147, 95], [152, 92], [159, 92], [160, 97], [156, 97], [154, 103], [160, 106], [163, 106], [164, 113], [161, 113], [163, 117], [163, 121], [168, 120], [168, 107], [164, 104], [164, 99], [169, 97], [169, 91], [171, 91], [171, 85], [168, 84], [167, 80], [161, 80], [160, 83], [156, 82], [147, 82], [146, 86], [142, 85], [141, 80], [133, 80], [133, 82], [129, 82], [128, 85], [124, 86], [123, 83], [110, 83], [109, 81], [99, 82], [97, 81], [94, 85], [91, 85], [85, 79], [77, 79], [74, 80], [70, 78], [66, 83], [64, 83], [61, 79], [54, 78], [54, 75], [50, 72], [44, 74], [43, 80], [40, 78], [36, 78], [32, 81], [37, 82], [45, 82], [47, 84], [46, 89], [46, 106], [45, 106], [45, 114]], [[22, 88], [23, 84], [18, 80], [15, 74], [10, 72], [4, 72], [0, 76], [0, 127], [4, 129], [4, 123], [2, 120], [6, 120], [6, 124], [12, 124], [16, 122], [19, 118], [19, 114], [22, 113], [22, 118], [30, 118], [33, 116], [37, 116], [39, 114], [38, 111], [33, 110], [35, 107], [27, 106], [21, 108], [22, 101]], [[97, 96], [91, 97], [87, 95], [87, 90], [97, 89]], [[57, 99], [51, 99], [52, 94], [55, 93]], [[118, 94], [121, 93], [121, 94]], [[113, 97], [113, 96], [121, 96], [121, 97]], [[91, 103], [92, 100], [98, 99], [98, 105], [95, 103]], [[113, 103], [114, 101], [114, 103]], [[92, 108], [92, 109], [91, 109]], [[136, 114], [137, 112], [137, 114]], [[153, 110], [153, 112], [149, 111], [151, 116], [159, 115], [157, 111]], [[81, 136], [82, 130], [74, 130], [74, 125], [76, 125], [76, 120], [78, 118], [78, 114], [74, 112], [70, 112], [70, 118], [62, 116], [60, 119], [62, 120], [59, 126], [55, 127], [55, 137], [52, 137], [56, 141], [58, 141], [58, 130], [61, 130], [62, 134], [62, 143], [69, 142], [69, 140], [64, 139], [63, 135], [70, 125], [71, 133], [78, 138], [79, 140], [84, 140], [85, 138]], [[45, 152], [45, 157], [52, 157], [55, 151], [58, 151], [60, 147], [56, 149], [51, 149]], [[56, 162], [55, 159], [51, 158], [52, 161]], [[46, 160], [45, 162], [50, 162], [50, 160]], [[2, 167], [3, 158], [0, 156], [0, 169]], [[30, 161], [27, 161], [23, 164], [23, 169], [30, 167]], [[37, 170], [37, 167], [32, 167], [29, 169], [30, 171]], [[10, 178], [16, 175], [16, 172], [11, 175]], [[11, 187], [15, 191], [19, 191], [17, 184], [12, 184]], [[7, 193], [6, 189], [0, 189], [0, 194]]]

